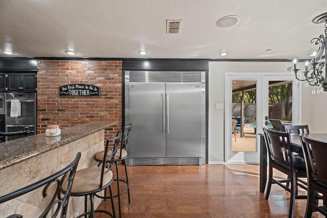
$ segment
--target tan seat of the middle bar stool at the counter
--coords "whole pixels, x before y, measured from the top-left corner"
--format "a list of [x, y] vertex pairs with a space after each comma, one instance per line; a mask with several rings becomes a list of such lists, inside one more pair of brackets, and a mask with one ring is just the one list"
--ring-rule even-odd
[[[76, 172], [73, 187], [71, 190], [74, 193], [92, 192], [100, 189], [101, 167], [88, 167], [80, 169]], [[112, 172], [108, 169], [104, 174], [103, 184], [108, 184], [113, 179]], [[66, 181], [63, 183], [63, 190], [66, 189]]]

